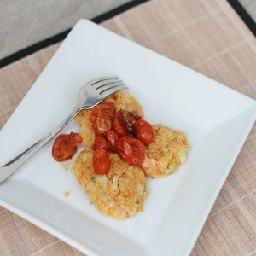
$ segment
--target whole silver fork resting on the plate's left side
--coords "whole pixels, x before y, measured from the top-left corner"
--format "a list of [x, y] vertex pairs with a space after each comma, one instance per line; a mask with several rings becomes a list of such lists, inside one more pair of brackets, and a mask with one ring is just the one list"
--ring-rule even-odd
[[72, 112], [53, 130], [49, 131], [41, 140], [27, 148], [24, 152], [10, 160], [6, 165], [0, 167], [0, 184], [20, 168], [33, 154], [49, 143], [60, 131], [62, 131], [82, 109], [90, 109], [102, 102], [106, 97], [119, 90], [128, 87], [117, 77], [102, 77], [90, 80], [79, 90], [77, 105]]

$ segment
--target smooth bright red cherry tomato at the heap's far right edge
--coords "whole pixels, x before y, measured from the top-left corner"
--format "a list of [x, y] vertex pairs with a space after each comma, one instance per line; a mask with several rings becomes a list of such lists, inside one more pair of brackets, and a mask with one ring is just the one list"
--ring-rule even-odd
[[136, 138], [140, 140], [144, 145], [149, 145], [154, 142], [154, 128], [147, 121], [141, 119], [138, 120], [138, 131]]

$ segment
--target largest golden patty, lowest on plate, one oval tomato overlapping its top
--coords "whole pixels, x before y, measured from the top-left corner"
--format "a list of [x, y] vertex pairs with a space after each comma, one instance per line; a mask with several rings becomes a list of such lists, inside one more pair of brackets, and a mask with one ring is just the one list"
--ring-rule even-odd
[[96, 208], [113, 218], [128, 218], [143, 212], [148, 190], [142, 168], [129, 166], [118, 154], [110, 154], [108, 174], [97, 175], [92, 166], [92, 155], [93, 150], [85, 148], [72, 171]]

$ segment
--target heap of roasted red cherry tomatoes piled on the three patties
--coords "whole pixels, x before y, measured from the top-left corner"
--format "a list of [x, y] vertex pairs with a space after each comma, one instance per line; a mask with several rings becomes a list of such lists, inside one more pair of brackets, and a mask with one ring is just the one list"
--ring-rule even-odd
[[154, 129], [137, 114], [125, 109], [116, 111], [113, 103], [92, 108], [90, 125], [95, 133], [92, 149], [96, 174], [110, 168], [109, 152], [116, 152], [130, 166], [140, 166], [146, 156], [146, 146], [154, 141]]

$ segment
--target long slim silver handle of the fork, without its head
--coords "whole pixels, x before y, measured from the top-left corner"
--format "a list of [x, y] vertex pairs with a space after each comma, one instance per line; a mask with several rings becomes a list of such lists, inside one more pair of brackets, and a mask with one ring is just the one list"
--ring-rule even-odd
[[61, 123], [37, 143], [34, 143], [29, 148], [26, 148], [24, 152], [16, 156], [13, 160], [10, 160], [6, 165], [0, 167], [0, 184], [3, 183], [8, 177], [16, 172], [20, 166], [22, 166], [27, 160], [29, 160], [33, 154], [36, 154], [40, 148], [43, 148], [50, 140], [52, 140], [60, 131], [62, 131], [72, 120], [73, 117], [79, 112], [79, 108], [73, 108], [73, 111], [62, 120]]

